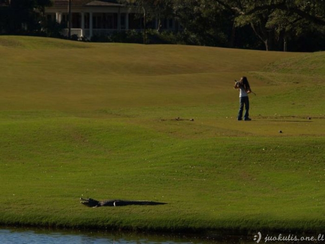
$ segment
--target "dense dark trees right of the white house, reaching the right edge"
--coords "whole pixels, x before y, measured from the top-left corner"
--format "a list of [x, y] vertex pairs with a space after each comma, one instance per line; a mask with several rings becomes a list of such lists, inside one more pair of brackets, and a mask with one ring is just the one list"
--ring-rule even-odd
[[325, 49], [324, 0], [120, 1], [159, 19], [172, 13], [183, 28], [175, 38], [178, 42], [284, 51]]

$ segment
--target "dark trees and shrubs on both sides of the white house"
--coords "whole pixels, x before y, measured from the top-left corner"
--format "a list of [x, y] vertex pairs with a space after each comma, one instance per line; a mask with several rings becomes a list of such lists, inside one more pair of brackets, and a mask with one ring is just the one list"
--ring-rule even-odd
[[[141, 42], [238, 47], [284, 51], [325, 49], [325, 0], [115, 0], [138, 8], [143, 20]], [[10, 3], [10, 4], [9, 4]], [[53, 36], [57, 25], [44, 26], [42, 12], [51, 0], [0, 0], [0, 33]], [[34, 9], [38, 9], [35, 13]], [[19, 14], [17, 14], [19, 13]], [[157, 32], [147, 23], [158, 20]], [[174, 18], [181, 28], [162, 33], [164, 19]], [[42, 24], [44, 23], [44, 25]], [[47, 23], [49, 25], [49, 23]], [[132, 34], [132, 33], [131, 33]], [[105, 37], [121, 39], [120, 34]], [[102, 39], [98, 36], [94, 40]], [[138, 36], [134, 40], [139, 41]]]

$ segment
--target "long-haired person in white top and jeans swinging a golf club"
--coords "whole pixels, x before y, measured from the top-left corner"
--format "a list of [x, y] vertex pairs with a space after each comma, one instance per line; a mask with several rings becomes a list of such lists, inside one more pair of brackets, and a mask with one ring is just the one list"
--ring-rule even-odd
[[245, 105], [244, 120], [249, 121], [251, 119], [248, 117], [249, 116], [248, 94], [252, 93], [251, 87], [249, 85], [249, 82], [248, 82], [246, 76], [241, 77], [239, 81], [235, 80], [235, 82], [236, 83], [233, 86], [233, 88], [239, 90], [239, 111], [238, 111], [237, 120], [242, 120], [243, 110], [244, 110], [244, 105]]

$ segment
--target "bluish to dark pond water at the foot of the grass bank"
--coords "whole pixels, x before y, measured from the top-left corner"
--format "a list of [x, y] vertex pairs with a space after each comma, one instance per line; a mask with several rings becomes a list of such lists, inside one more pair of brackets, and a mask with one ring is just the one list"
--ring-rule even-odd
[[[260, 232], [259, 232], [260, 234]], [[256, 237], [256, 238], [254, 238]], [[315, 244], [325, 243], [325, 235], [259, 235], [220, 236], [197, 238], [197, 236], [147, 235], [122, 232], [84, 232], [68, 230], [44, 230], [33, 228], [0, 227], [0, 244]], [[282, 241], [274, 238], [282, 238]], [[294, 239], [295, 238], [295, 239]], [[310, 240], [315, 238], [315, 240]], [[272, 240], [273, 239], [273, 240]], [[281, 239], [280, 239], [281, 240]]]

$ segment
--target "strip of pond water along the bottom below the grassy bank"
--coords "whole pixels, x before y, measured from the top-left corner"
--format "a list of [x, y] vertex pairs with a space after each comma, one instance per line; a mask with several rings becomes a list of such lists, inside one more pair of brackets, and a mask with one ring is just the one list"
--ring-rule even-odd
[[[80, 230], [80, 229], [60, 229], [60, 228], [37, 228], [37, 227], [14, 227], [0, 225], [1, 244], [253, 244], [275, 242], [318, 244], [325, 242], [325, 235], [306, 233], [269, 233], [254, 232], [246, 235], [226, 234], [226, 230], [221, 232], [204, 231], [203, 233], [162, 233], [162, 232], [134, 232], [134, 231], [111, 231], [111, 230]], [[243, 232], [243, 230], [242, 230]], [[311, 238], [310, 241], [300, 238]], [[274, 239], [278, 238], [278, 239]], [[279, 238], [282, 238], [279, 239]], [[284, 239], [284, 238], [287, 238]], [[293, 240], [299, 238], [299, 240]], [[321, 240], [317, 240], [321, 238]], [[26, 240], [28, 242], [26, 242]], [[268, 240], [267, 240], [268, 239]], [[272, 240], [273, 239], [273, 240]], [[280, 240], [280, 241], [279, 241]]]

